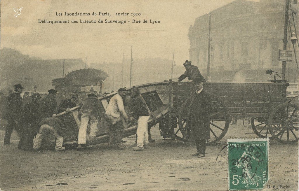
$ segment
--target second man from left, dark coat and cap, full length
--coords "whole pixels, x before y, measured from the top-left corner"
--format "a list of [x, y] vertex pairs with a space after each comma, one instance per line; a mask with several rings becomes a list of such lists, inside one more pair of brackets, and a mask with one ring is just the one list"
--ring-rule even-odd
[[33, 150], [33, 138], [38, 132], [38, 124], [42, 121], [38, 103], [40, 97], [39, 93], [34, 93], [31, 96], [31, 101], [25, 104], [20, 121], [22, 128], [20, 130], [19, 149]]

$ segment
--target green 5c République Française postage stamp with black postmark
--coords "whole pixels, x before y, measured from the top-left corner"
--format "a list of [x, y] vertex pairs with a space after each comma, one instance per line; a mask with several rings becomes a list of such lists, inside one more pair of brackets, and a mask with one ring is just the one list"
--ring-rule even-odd
[[229, 190], [263, 189], [269, 179], [269, 139], [228, 139]]

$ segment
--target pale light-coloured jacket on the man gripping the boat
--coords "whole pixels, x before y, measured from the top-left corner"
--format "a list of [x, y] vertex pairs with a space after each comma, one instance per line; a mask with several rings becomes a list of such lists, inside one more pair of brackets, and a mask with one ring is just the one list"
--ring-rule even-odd
[[120, 115], [122, 115], [125, 118], [128, 118], [125, 108], [123, 107], [123, 98], [119, 94], [116, 94], [110, 99], [105, 114], [111, 115], [115, 118], [119, 118]]

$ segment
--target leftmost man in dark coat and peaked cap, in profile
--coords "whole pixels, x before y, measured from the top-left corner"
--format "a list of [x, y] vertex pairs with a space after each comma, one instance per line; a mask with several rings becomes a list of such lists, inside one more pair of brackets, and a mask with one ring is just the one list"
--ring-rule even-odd
[[5, 130], [4, 135], [4, 144], [11, 144], [10, 142], [10, 136], [13, 132], [13, 128], [16, 128], [16, 130], [19, 133], [19, 127], [17, 123], [20, 121], [20, 116], [23, 110], [23, 101], [20, 94], [23, 92], [23, 87], [21, 84], [14, 85], [14, 92], [11, 93], [7, 98], [7, 107], [6, 107], [6, 116], [8, 125]]

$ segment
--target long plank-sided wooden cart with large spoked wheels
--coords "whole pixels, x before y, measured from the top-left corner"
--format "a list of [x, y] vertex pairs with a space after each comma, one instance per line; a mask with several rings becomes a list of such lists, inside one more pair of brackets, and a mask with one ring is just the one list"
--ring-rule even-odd
[[[275, 138], [285, 144], [298, 141], [298, 105], [285, 103], [288, 83], [204, 83], [211, 94], [210, 139], [221, 140], [231, 118], [251, 118], [252, 130], [259, 137]], [[160, 123], [161, 135], [186, 141], [190, 136], [192, 83], [169, 81], [169, 118]], [[297, 124], [297, 125], [296, 125]], [[168, 125], [168, 126], [167, 126]], [[176, 128], [176, 127], [179, 128]]]

